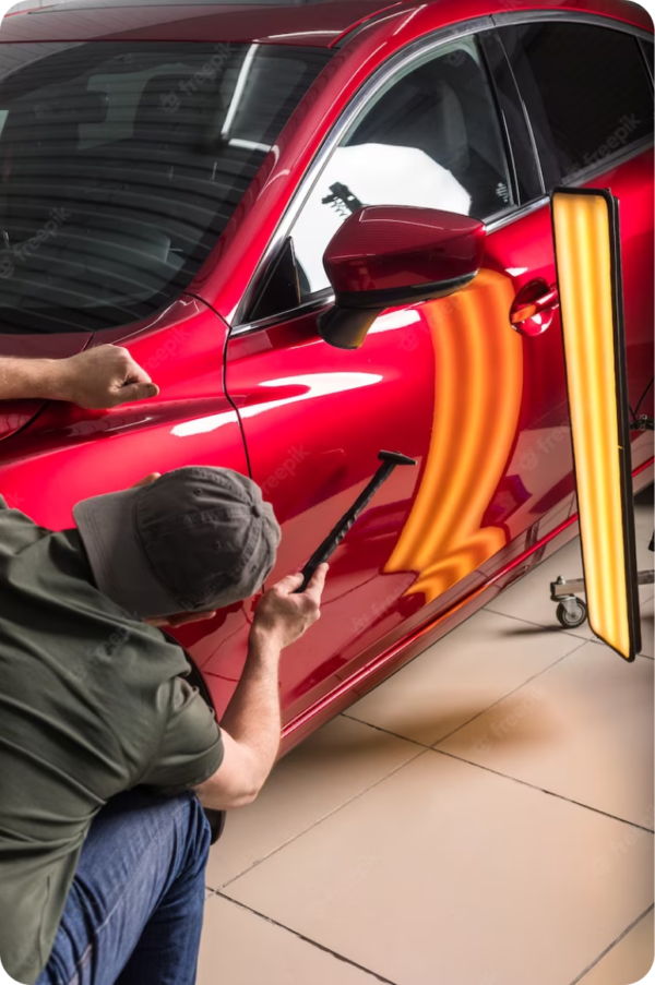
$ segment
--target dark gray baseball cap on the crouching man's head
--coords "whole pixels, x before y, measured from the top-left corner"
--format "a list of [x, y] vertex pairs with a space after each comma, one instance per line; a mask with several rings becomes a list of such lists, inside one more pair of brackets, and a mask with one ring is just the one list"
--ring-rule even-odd
[[222, 609], [271, 574], [281, 530], [260, 488], [192, 466], [73, 509], [97, 587], [142, 618]]

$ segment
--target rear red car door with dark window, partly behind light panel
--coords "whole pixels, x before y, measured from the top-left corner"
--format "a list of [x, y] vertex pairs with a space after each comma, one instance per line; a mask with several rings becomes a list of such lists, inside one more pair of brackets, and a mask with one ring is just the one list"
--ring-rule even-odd
[[[525, 20], [501, 26], [500, 36], [529, 112], [547, 190], [609, 188], [619, 200], [630, 404], [653, 416], [655, 39], [639, 32], [640, 40], [599, 17]], [[550, 237], [546, 219], [543, 236]], [[645, 466], [655, 455], [655, 435], [635, 433], [632, 455], [635, 469]]]

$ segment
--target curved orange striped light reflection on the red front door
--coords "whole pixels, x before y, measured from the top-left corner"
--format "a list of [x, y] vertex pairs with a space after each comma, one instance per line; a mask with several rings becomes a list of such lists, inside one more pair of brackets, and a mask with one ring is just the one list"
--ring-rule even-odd
[[416, 570], [407, 594], [431, 602], [507, 543], [481, 527], [509, 460], [523, 396], [523, 344], [510, 278], [483, 271], [421, 309], [434, 346], [432, 437], [420, 489], [385, 572]]

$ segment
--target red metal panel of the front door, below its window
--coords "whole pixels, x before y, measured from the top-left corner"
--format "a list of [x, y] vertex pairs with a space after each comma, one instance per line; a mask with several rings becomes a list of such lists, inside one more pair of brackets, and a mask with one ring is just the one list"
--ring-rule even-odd
[[[229, 343], [228, 393], [283, 526], [274, 578], [302, 566], [379, 449], [419, 463], [396, 469], [334, 555], [322, 632], [284, 658], [287, 720], [483, 584], [532, 527], [546, 520], [543, 536], [568, 516], [570, 478], [547, 498], [571, 472], [570, 446], [552, 439], [568, 422], [560, 339], [522, 338], [509, 320], [516, 278], [501, 267], [522, 236], [521, 223], [495, 233], [468, 288], [384, 313], [358, 351], [322, 341], [315, 314]], [[526, 276], [550, 275], [548, 251], [534, 263]], [[546, 439], [552, 451], [522, 451]]]

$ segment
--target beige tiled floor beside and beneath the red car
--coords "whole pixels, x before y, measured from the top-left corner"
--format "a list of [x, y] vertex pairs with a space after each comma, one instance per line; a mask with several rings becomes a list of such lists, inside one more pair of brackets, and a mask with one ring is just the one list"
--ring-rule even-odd
[[[655, 495], [640, 497], [642, 567]], [[287, 756], [213, 850], [199, 985], [632, 985], [655, 963], [644, 656], [564, 633], [565, 548]]]

